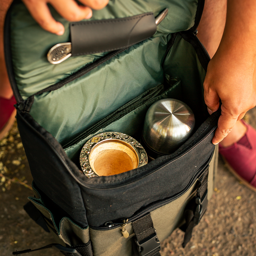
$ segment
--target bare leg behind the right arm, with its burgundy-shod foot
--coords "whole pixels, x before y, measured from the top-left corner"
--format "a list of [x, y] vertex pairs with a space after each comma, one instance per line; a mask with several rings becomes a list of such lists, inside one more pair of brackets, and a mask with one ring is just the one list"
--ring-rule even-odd
[[[206, 0], [198, 38], [212, 58], [219, 47], [226, 21], [227, 0]], [[250, 189], [256, 191], [256, 131], [243, 121], [220, 142], [220, 154], [229, 169]]]

